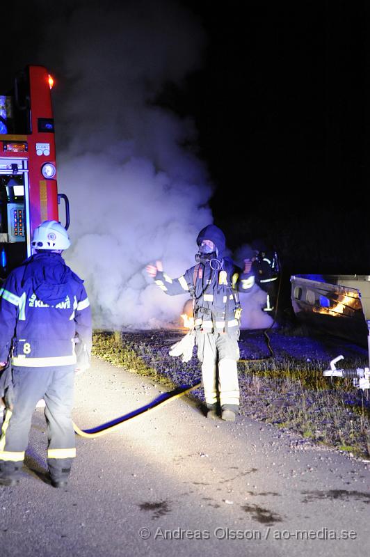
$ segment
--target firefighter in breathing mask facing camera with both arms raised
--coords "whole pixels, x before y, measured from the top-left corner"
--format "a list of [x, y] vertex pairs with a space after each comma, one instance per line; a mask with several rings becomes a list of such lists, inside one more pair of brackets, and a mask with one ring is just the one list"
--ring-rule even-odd
[[[160, 261], [147, 265], [146, 270], [166, 294], [191, 295], [207, 418], [217, 418], [220, 411], [223, 420], [235, 421], [239, 411], [239, 290], [246, 292], [254, 284], [252, 262], [246, 261], [242, 271], [230, 258], [223, 257], [225, 235], [213, 224], [200, 231], [197, 244], [197, 264], [179, 278], [164, 273]], [[192, 352], [193, 345], [183, 361], [188, 361]], [[180, 354], [172, 350], [171, 355]]]

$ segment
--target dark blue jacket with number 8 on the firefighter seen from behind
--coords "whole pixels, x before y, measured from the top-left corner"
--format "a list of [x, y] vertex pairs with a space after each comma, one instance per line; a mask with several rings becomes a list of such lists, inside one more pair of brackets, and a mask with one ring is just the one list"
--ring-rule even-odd
[[24, 367], [77, 362], [76, 338], [90, 354], [91, 311], [83, 281], [58, 253], [38, 253], [0, 289], [0, 361]]

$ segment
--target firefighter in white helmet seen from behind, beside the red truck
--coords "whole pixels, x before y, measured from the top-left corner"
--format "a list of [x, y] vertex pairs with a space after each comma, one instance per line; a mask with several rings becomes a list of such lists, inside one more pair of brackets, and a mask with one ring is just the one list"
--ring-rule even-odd
[[74, 374], [90, 365], [92, 331], [83, 281], [61, 256], [69, 246], [60, 223], [43, 222], [32, 237], [36, 253], [10, 273], [0, 290], [0, 398], [6, 405], [0, 436], [3, 485], [19, 483], [31, 417], [40, 399], [45, 400], [51, 485], [67, 485], [76, 455]]

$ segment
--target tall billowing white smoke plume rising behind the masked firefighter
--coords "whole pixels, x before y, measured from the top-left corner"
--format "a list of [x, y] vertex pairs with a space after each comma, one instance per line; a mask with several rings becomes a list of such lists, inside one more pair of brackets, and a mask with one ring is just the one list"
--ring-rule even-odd
[[[204, 34], [173, 1], [76, 5], [49, 26], [45, 54], [56, 68], [58, 189], [71, 206], [65, 259], [86, 281], [95, 327], [169, 327], [187, 296], [164, 295], [145, 265], [182, 274], [213, 218], [193, 124], [155, 100], [201, 67]], [[250, 326], [265, 319], [261, 305], [243, 312]]]

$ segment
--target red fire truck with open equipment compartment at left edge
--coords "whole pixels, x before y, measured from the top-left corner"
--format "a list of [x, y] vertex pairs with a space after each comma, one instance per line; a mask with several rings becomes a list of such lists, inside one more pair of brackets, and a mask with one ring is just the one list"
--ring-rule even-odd
[[33, 230], [56, 220], [65, 201], [56, 185], [52, 79], [46, 68], [30, 65], [0, 93], [0, 278], [31, 256]]

